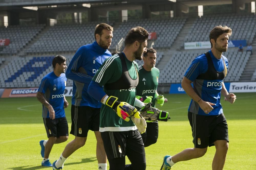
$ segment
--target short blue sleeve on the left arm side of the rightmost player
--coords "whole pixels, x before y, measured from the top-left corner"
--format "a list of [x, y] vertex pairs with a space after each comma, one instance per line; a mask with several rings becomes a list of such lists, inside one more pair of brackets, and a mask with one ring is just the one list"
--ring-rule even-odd
[[188, 67], [184, 76], [193, 82], [194, 80], [196, 80], [196, 78], [200, 74], [205, 73], [207, 69], [208, 69], [207, 58], [203, 54], [198, 56], [192, 61], [191, 65]]

